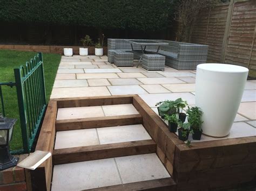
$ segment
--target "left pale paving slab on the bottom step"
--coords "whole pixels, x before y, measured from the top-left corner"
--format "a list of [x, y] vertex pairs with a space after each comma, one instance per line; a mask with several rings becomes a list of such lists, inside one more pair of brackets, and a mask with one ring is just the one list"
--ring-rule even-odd
[[84, 190], [121, 183], [116, 162], [110, 158], [55, 165], [51, 190]]

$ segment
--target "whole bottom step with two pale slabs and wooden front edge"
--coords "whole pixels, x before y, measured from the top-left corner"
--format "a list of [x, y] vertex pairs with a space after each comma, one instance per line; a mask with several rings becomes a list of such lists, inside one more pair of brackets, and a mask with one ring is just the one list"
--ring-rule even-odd
[[176, 190], [156, 153], [53, 167], [52, 190]]

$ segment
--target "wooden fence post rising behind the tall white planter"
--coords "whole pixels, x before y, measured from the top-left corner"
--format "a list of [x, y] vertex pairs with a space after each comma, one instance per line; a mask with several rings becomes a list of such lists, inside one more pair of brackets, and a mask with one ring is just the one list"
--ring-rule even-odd
[[230, 26], [232, 22], [233, 10], [234, 10], [234, 0], [231, 0], [230, 6], [228, 7], [227, 22], [225, 26], [225, 32], [224, 32], [223, 43], [221, 48], [220, 62], [222, 63], [225, 63], [225, 54], [226, 54], [226, 48], [227, 48], [228, 38], [230, 34]]

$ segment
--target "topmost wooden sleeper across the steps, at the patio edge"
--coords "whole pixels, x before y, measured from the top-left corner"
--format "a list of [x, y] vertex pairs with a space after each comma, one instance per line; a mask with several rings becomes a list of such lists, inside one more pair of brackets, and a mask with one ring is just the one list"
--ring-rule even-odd
[[117, 105], [132, 103], [132, 95], [98, 96], [52, 99], [57, 101], [58, 108], [89, 107], [98, 105]]

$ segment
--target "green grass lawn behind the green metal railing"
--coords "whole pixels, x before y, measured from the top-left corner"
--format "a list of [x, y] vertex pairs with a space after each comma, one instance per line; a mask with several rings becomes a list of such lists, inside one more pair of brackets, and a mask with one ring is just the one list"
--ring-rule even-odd
[[[0, 50], [0, 82], [15, 81], [14, 68], [25, 65], [26, 61], [36, 55], [36, 52], [23, 52], [23, 51], [9, 51]], [[45, 91], [46, 98], [49, 100], [51, 90], [57, 73], [57, 69], [60, 62], [59, 54], [43, 53], [44, 61], [44, 75], [45, 75]], [[10, 88], [2, 86], [2, 92], [4, 97], [5, 115], [7, 117], [17, 118], [18, 122], [14, 127], [14, 133], [10, 143], [11, 150], [19, 150], [23, 148], [21, 128], [19, 124], [18, 104], [16, 87]], [[1, 105], [1, 103], [0, 103]], [[2, 112], [2, 105], [0, 108]]]

